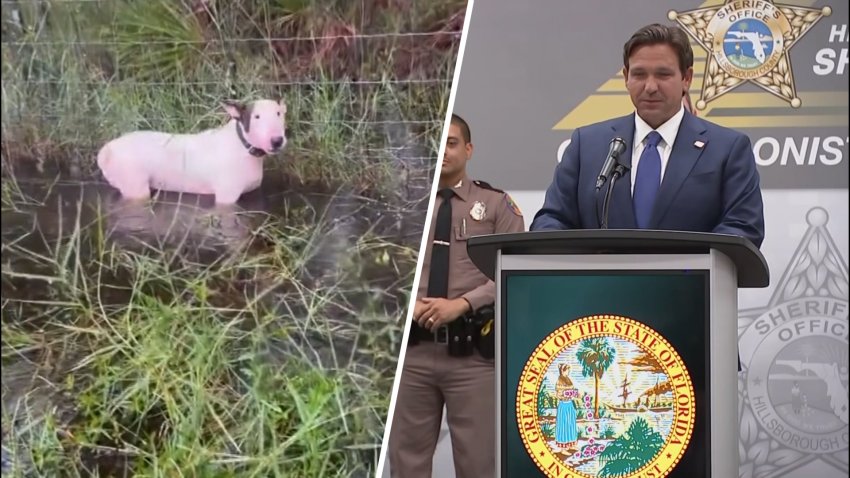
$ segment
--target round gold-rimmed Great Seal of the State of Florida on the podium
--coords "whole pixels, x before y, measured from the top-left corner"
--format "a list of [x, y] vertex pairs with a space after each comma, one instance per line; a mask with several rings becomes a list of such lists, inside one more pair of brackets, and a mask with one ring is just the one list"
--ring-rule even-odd
[[667, 476], [688, 447], [696, 403], [684, 362], [650, 327], [598, 315], [558, 328], [520, 375], [516, 417], [549, 477]]

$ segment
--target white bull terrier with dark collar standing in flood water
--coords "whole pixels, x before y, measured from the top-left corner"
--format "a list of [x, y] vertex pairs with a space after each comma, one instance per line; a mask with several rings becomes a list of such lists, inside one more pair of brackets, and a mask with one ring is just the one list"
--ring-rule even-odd
[[147, 200], [151, 189], [213, 194], [234, 204], [260, 187], [263, 157], [286, 145], [286, 104], [258, 100], [222, 103], [230, 121], [196, 134], [134, 131], [106, 143], [97, 164], [106, 181], [130, 200]]

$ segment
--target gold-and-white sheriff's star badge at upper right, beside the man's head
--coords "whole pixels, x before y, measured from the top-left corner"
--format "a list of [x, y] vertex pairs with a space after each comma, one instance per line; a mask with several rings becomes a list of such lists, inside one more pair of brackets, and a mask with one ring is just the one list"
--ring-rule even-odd
[[708, 52], [697, 109], [751, 82], [793, 108], [797, 96], [789, 50], [822, 17], [822, 9], [774, 4], [772, 0], [727, 0], [718, 7], [687, 12], [671, 10], [675, 21]]

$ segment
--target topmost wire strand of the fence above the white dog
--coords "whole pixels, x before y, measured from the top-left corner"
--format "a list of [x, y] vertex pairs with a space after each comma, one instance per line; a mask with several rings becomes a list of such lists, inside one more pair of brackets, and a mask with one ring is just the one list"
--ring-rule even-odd
[[462, 31], [460, 30], [445, 30], [436, 32], [410, 32], [410, 33], [351, 33], [347, 35], [319, 35], [319, 36], [301, 36], [301, 37], [258, 37], [258, 38], [210, 38], [205, 40], [145, 40], [145, 41], [104, 41], [104, 40], [13, 40], [2, 41], [3, 46], [126, 46], [126, 45], [208, 45], [214, 43], [250, 43], [250, 42], [319, 42], [326, 40], [340, 39], [378, 39], [378, 38], [415, 38], [415, 37], [433, 37], [433, 36], [457, 36], [460, 38]]

